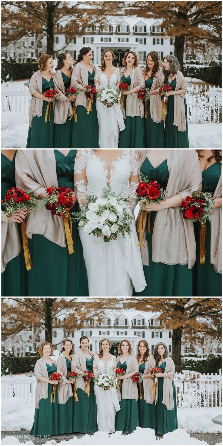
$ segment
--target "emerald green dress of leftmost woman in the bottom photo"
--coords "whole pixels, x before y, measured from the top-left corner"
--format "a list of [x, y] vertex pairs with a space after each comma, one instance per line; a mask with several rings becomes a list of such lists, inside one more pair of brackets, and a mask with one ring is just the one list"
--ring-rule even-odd
[[[57, 367], [53, 363], [49, 365], [45, 363], [48, 377], [52, 373], [57, 373]], [[58, 385], [58, 384], [57, 384]], [[56, 394], [55, 401], [50, 402], [50, 395], [53, 392], [53, 384], [48, 384], [48, 397], [42, 398], [39, 401], [39, 409], [35, 409], [33, 427], [29, 432], [29, 435], [34, 435], [35, 437], [48, 437], [50, 435], [58, 435], [58, 421], [59, 421], [59, 409], [58, 409], [58, 394]]]

